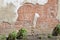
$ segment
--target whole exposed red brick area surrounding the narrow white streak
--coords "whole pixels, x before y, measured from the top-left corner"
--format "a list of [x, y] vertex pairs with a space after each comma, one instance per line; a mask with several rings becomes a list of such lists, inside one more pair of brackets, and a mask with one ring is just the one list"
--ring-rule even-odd
[[34, 14], [38, 13], [40, 17], [37, 21], [37, 26], [34, 29], [36, 33], [51, 33], [54, 27], [58, 24], [57, 16], [57, 0], [48, 0], [45, 5], [25, 3], [18, 9], [18, 19], [15, 24], [1, 23], [0, 34], [9, 33], [13, 30], [19, 30], [25, 27], [28, 32], [31, 32]]

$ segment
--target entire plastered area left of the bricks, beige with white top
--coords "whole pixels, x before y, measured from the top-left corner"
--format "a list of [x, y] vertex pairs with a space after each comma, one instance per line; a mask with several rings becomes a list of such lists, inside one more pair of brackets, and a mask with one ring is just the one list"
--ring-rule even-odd
[[15, 23], [24, 0], [0, 0], [0, 22]]

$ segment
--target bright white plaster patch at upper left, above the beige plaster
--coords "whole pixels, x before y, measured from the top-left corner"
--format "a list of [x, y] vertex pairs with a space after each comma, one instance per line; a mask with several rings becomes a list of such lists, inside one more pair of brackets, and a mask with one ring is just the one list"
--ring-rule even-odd
[[18, 8], [22, 6], [24, 0], [4, 0], [4, 4], [7, 5], [9, 3], [13, 3], [15, 5], [15, 11], [17, 12]]

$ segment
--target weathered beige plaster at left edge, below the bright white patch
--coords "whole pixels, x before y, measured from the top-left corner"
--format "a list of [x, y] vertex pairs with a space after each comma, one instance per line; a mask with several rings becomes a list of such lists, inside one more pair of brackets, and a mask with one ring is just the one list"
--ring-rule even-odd
[[0, 8], [0, 22], [8, 22], [10, 24], [16, 22], [17, 20], [17, 13], [14, 12], [15, 6], [10, 3], [7, 4], [6, 7], [1, 7]]

